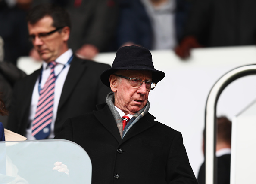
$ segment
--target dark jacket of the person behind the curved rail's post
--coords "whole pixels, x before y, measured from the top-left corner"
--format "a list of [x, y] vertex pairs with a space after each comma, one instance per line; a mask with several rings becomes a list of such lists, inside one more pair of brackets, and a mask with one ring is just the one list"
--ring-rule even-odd
[[[230, 154], [217, 157], [217, 184], [230, 184]], [[205, 162], [198, 172], [198, 183], [205, 184]]]

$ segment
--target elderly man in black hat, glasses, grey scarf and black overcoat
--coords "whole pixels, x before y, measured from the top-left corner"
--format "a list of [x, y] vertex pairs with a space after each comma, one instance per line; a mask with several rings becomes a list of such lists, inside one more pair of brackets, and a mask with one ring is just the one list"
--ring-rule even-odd
[[181, 133], [148, 112], [148, 94], [164, 77], [147, 48], [120, 48], [101, 75], [112, 90], [106, 103], [68, 119], [56, 135], [87, 151], [92, 184], [197, 184]]

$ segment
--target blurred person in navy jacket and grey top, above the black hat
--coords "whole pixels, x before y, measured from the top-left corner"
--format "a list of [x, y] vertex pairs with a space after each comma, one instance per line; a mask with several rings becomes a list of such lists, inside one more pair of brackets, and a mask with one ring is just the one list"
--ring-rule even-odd
[[189, 0], [120, 0], [118, 47], [173, 49], [184, 31]]

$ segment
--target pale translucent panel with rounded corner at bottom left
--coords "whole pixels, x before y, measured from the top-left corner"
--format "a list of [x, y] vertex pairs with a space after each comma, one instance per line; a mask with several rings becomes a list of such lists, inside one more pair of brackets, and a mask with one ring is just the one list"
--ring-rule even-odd
[[0, 142], [0, 184], [91, 184], [91, 160], [74, 142]]

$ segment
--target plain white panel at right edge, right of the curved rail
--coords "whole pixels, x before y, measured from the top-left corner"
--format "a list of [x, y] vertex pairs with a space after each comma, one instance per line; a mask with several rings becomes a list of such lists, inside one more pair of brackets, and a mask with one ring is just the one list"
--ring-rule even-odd
[[232, 120], [231, 184], [255, 184], [256, 101]]

